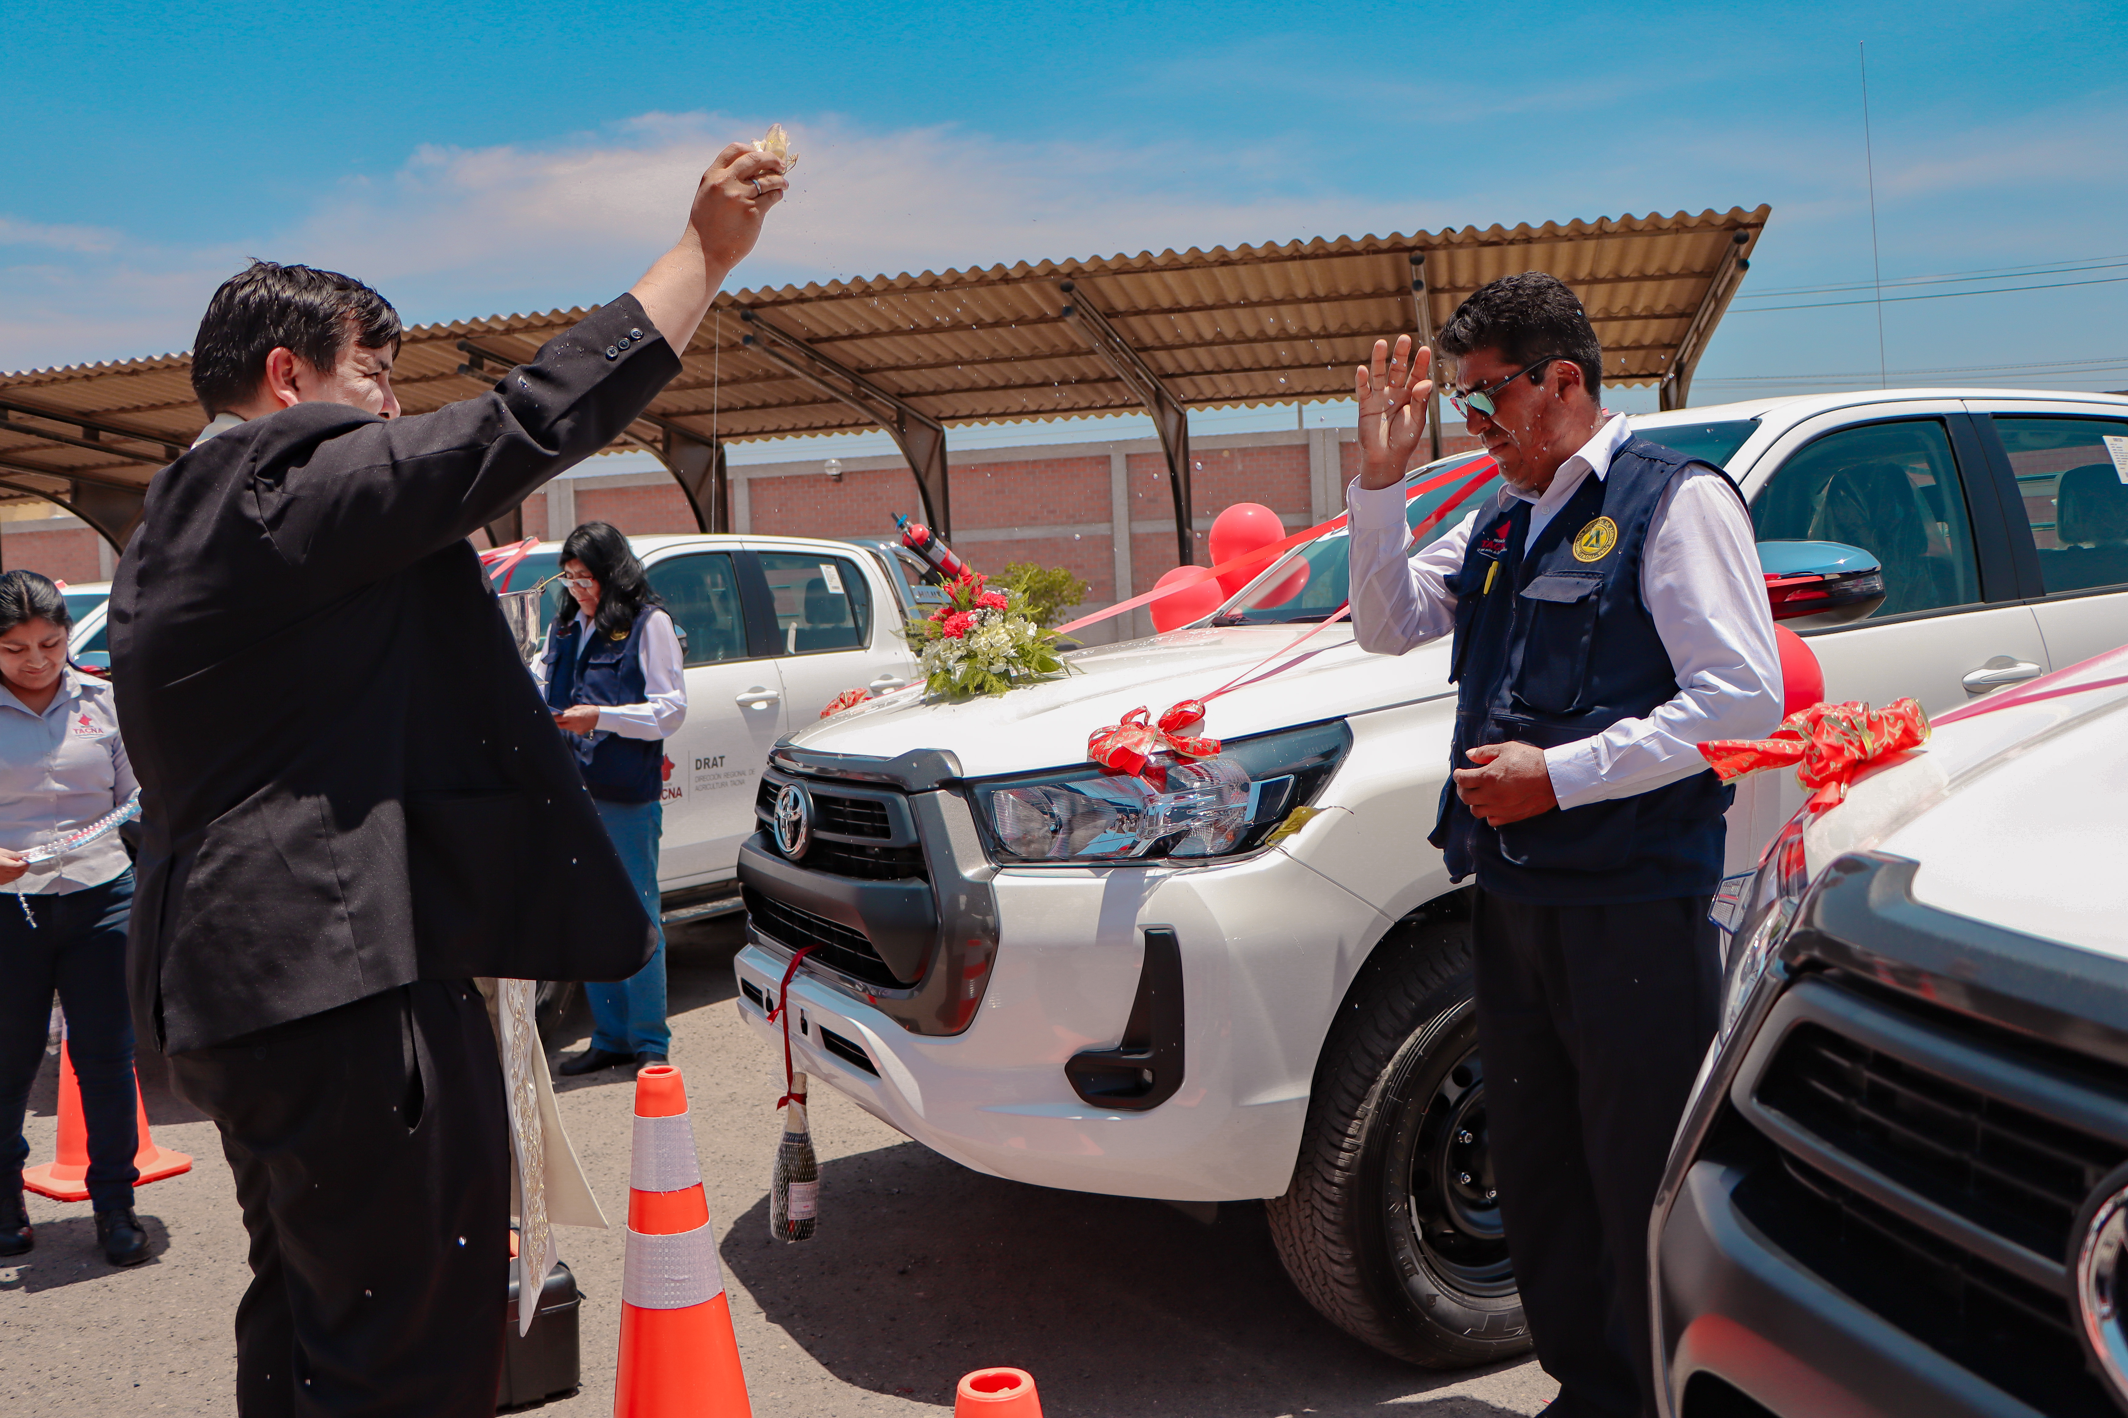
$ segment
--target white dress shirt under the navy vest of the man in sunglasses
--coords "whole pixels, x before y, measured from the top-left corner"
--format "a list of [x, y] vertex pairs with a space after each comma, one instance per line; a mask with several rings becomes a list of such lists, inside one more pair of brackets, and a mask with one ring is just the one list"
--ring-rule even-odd
[[[1632, 438], [1613, 415], [1566, 459], [1532, 502], [1524, 540], [1558, 514], [1587, 476], [1605, 478], [1611, 457]], [[1415, 557], [1404, 557], [1404, 487], [1345, 491], [1351, 510], [1353, 640], [1377, 655], [1402, 655], [1456, 629], [1447, 576], [1462, 568], [1477, 512]], [[1632, 797], [1707, 767], [1698, 746], [1715, 738], [1764, 738], [1781, 723], [1781, 653], [1758, 568], [1751, 517], [1728, 480], [1705, 468], [1677, 476], [1656, 504], [1641, 551], [1641, 600], [1670, 655], [1677, 697], [1645, 719], [1619, 719], [1592, 738], [1545, 748], [1551, 791], [1562, 808]]]

